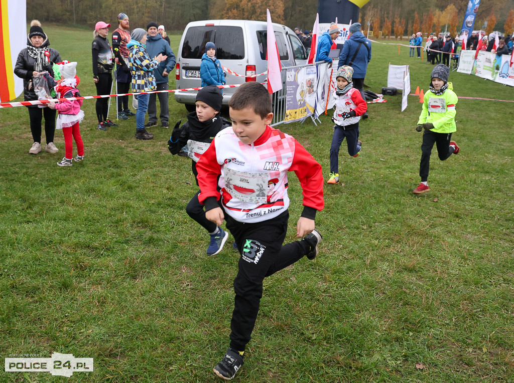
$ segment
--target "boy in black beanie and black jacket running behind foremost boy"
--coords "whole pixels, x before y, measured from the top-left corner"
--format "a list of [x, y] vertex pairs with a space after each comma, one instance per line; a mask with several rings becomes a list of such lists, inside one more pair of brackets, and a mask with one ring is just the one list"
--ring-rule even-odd
[[[188, 122], [181, 127], [179, 127], [181, 121], [176, 123], [170, 141], [168, 141], [168, 149], [171, 154], [178, 154], [180, 149], [188, 144], [188, 156], [192, 159], [191, 168], [195, 179], [198, 176], [196, 162], [207, 150], [217, 132], [230, 126], [227, 120], [219, 116], [222, 101], [222, 91], [217, 86], [209, 85], [201, 88], [196, 95], [196, 111], [188, 114]], [[198, 180], [196, 180], [196, 185], [198, 185]], [[228, 233], [205, 218], [204, 206], [198, 201], [199, 194], [198, 190], [198, 193], [191, 198], [186, 207], [186, 213], [209, 232], [211, 239], [207, 255], [215, 255], [222, 251]]]

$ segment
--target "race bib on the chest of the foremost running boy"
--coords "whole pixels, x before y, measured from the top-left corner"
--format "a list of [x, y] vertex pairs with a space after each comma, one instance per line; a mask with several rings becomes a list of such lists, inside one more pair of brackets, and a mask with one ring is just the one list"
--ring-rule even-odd
[[268, 194], [268, 173], [243, 173], [225, 168], [225, 189], [243, 202], [263, 204]]

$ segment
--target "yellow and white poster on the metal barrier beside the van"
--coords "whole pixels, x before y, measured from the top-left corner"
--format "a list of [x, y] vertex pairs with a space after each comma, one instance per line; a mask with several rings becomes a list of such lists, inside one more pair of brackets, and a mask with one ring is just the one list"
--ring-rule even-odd
[[313, 114], [316, 105], [317, 76], [315, 66], [287, 69], [284, 123], [300, 121]]

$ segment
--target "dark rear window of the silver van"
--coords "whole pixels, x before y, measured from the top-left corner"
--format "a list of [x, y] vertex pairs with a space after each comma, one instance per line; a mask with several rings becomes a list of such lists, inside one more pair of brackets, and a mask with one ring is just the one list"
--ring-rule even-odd
[[216, 45], [216, 58], [219, 60], [242, 60], [245, 58], [243, 28], [229, 26], [189, 28], [182, 44], [182, 58], [201, 59], [205, 53], [205, 44], [209, 41]]

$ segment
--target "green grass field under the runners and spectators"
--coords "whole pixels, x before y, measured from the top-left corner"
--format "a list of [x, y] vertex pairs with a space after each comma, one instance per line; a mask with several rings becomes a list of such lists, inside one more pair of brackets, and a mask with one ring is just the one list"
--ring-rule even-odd
[[[93, 32], [43, 28], [63, 59], [79, 62], [81, 94], [96, 94]], [[170, 37], [176, 53], [180, 36]], [[412, 91], [428, 89], [431, 65], [374, 44], [371, 90], [387, 86], [390, 62], [410, 65]], [[450, 81], [459, 96], [512, 99], [512, 88], [472, 75]], [[400, 112], [401, 95], [386, 99], [361, 121], [361, 156], [343, 143], [341, 184], [324, 188], [321, 254], [265, 280], [236, 381], [514, 381], [512, 103], [461, 100], [461, 152], [441, 162], [434, 148], [431, 191], [415, 196], [421, 105], [411, 96]], [[58, 154], [31, 156], [25, 107], [0, 110], [0, 356], [95, 359], [94, 372], [71, 378], [3, 372], [0, 381], [215, 381], [238, 254], [230, 238], [206, 256], [208, 236], [185, 213], [197, 191], [190, 160], [168, 152], [170, 129], [138, 141], [132, 118], [98, 131], [94, 103], [82, 108], [85, 161], [70, 168], [56, 165], [62, 132]], [[172, 95], [170, 113], [172, 127], [186, 119]], [[329, 117], [280, 126], [325, 177]], [[302, 207], [293, 174], [290, 185], [287, 241]]]

